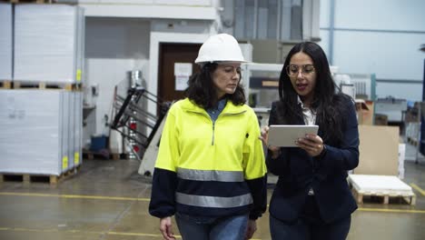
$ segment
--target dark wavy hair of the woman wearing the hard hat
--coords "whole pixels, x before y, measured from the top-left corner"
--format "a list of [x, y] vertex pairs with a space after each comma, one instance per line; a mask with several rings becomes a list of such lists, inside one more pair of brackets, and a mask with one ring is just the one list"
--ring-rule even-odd
[[[191, 76], [188, 82], [189, 86], [184, 90], [184, 94], [193, 103], [202, 106], [204, 109], [215, 107], [219, 101], [213, 84], [213, 72], [216, 69], [216, 63], [203, 65], [200, 72]], [[241, 82], [241, 80], [239, 81]], [[232, 95], [225, 95], [225, 97], [232, 101], [233, 105], [243, 105], [246, 102], [242, 85], [238, 85]]]

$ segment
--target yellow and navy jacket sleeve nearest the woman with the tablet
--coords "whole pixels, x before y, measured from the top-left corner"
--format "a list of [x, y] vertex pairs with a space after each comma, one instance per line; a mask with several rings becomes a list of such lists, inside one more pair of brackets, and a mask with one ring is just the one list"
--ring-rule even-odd
[[248, 122], [248, 133], [243, 146], [245, 182], [250, 188], [253, 206], [250, 219], [261, 217], [267, 208], [267, 169], [262, 150], [260, 125], [253, 111]]

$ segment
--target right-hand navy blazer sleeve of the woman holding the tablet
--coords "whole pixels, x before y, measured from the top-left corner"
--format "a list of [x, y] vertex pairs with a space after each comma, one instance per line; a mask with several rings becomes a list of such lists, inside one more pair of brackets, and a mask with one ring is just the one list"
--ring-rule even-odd
[[352, 101], [347, 104], [344, 123], [341, 145], [338, 147], [326, 145], [326, 152], [320, 159], [322, 167], [334, 171], [348, 171], [359, 165], [359, 127]]

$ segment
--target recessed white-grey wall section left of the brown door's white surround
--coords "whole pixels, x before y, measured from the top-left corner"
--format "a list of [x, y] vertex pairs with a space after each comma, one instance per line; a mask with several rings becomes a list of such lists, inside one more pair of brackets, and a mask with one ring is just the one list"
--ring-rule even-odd
[[[87, 118], [89, 125], [84, 129], [85, 138], [109, 135], [104, 126], [104, 115], [108, 115], [111, 121], [114, 85], [126, 81], [127, 72], [131, 70], [148, 74], [149, 33], [150, 22], [143, 19], [86, 19], [86, 83], [87, 86], [98, 85], [99, 95], [93, 98], [95, 109]], [[84, 139], [84, 143], [86, 141]]]

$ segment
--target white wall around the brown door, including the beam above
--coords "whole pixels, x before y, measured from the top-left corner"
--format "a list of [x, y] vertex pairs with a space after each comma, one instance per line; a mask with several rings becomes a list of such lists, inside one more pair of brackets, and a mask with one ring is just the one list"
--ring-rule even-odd
[[[99, 90], [97, 96], [84, 96], [95, 105], [85, 120], [84, 143], [91, 135], [109, 134], [104, 115], [111, 122], [114, 85], [126, 81], [128, 71], [142, 70], [147, 90], [156, 95], [160, 43], [203, 43], [221, 25], [220, 0], [94, 2], [82, 5], [87, 17], [86, 86]], [[149, 105], [148, 111], [154, 113], [154, 108]]]

